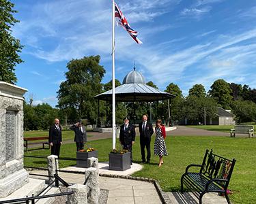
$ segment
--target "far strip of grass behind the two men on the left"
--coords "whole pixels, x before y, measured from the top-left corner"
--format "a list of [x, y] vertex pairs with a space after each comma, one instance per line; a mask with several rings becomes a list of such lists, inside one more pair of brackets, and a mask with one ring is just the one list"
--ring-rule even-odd
[[[24, 131], [24, 137], [48, 137], [48, 131]], [[91, 135], [87, 134], [87, 137]], [[74, 139], [74, 131], [62, 131], [62, 140]]]

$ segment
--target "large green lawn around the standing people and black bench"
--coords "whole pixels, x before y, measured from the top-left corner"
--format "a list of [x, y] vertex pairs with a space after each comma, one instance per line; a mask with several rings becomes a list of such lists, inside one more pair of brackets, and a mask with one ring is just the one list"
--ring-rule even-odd
[[[154, 138], [152, 138], [154, 141]], [[98, 150], [100, 161], [107, 161], [111, 150], [111, 139], [91, 141], [90, 146]], [[152, 150], [154, 142], [152, 142]], [[167, 150], [169, 156], [164, 158], [164, 165], [158, 167], [158, 157], [152, 155], [152, 163], [144, 165], [144, 168], [134, 173], [134, 176], [152, 177], [158, 180], [165, 191], [180, 190], [180, 177], [190, 163], [201, 164], [205, 149], [213, 149], [218, 155], [227, 158], [236, 158], [229, 189], [233, 203], [256, 203], [256, 163], [255, 163], [255, 138], [241, 137], [173, 137], [167, 136]], [[75, 158], [75, 143], [61, 147], [62, 157]], [[48, 156], [49, 150], [35, 150], [25, 152], [25, 155]], [[133, 147], [134, 162], [141, 160], [139, 138]], [[46, 167], [46, 160], [39, 158], [25, 158], [25, 166]], [[75, 162], [60, 160], [60, 167], [75, 165]]]

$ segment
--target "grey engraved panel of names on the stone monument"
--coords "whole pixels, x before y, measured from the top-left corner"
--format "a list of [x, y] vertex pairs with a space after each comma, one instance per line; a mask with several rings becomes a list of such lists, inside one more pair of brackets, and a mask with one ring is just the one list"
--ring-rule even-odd
[[14, 159], [16, 112], [8, 110], [5, 114], [5, 160]]

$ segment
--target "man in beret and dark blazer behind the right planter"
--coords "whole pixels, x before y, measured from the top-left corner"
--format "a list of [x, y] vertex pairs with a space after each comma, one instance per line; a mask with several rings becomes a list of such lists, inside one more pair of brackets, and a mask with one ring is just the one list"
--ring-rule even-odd
[[129, 118], [124, 118], [124, 124], [120, 127], [119, 141], [124, 148], [130, 152], [130, 164], [132, 165], [132, 145], [135, 141], [135, 127], [129, 124]]

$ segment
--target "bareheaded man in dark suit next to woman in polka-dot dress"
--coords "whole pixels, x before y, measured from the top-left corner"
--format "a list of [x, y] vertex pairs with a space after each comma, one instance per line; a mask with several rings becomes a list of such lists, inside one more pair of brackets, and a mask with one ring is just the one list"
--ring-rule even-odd
[[150, 163], [150, 141], [153, 135], [153, 127], [150, 122], [147, 122], [147, 114], [142, 116], [142, 122], [139, 124], [140, 143], [141, 143], [141, 160], [145, 163], [145, 147], [147, 149], [147, 163]]

